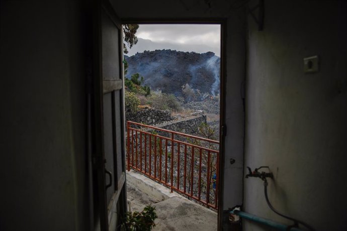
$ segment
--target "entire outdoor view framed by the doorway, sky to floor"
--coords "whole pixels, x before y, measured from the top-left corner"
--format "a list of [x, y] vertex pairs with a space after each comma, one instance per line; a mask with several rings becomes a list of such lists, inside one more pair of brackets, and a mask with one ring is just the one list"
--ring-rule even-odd
[[152, 219], [162, 219], [165, 207], [189, 199], [194, 213], [208, 208], [199, 219], [216, 230], [220, 25], [131, 24], [123, 32], [128, 210], [154, 207]]

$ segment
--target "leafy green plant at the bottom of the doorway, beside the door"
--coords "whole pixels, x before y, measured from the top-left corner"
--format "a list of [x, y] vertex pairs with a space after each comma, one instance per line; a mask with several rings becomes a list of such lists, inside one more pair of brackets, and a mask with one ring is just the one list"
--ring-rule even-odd
[[141, 212], [127, 212], [122, 228], [126, 231], [148, 231], [155, 227], [154, 220], [157, 217], [155, 208], [147, 205]]

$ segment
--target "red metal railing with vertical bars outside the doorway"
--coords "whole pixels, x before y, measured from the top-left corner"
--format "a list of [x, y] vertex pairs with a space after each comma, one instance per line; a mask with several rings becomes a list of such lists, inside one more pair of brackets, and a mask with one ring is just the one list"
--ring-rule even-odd
[[130, 168], [217, 208], [219, 141], [127, 122]]

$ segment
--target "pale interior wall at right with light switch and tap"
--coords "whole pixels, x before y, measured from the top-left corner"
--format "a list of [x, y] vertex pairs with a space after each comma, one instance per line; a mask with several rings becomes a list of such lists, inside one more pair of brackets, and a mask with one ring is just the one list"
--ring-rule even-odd
[[[347, 229], [346, 15], [344, 1], [267, 0], [264, 31], [248, 16], [244, 166], [270, 166], [274, 207], [316, 230]], [[319, 71], [305, 74], [313, 55]], [[258, 178], [244, 180], [243, 210], [292, 224]]]

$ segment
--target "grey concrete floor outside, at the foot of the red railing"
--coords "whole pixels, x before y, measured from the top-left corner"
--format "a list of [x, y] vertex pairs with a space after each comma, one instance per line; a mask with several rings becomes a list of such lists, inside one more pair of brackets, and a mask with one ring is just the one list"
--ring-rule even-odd
[[[152, 230], [217, 230], [217, 213], [177, 193], [167, 193], [162, 185], [142, 178], [136, 173], [127, 173], [127, 197], [132, 211], [142, 211], [150, 204], [156, 208], [158, 218]], [[162, 195], [160, 191], [165, 190]], [[146, 192], [146, 193], [144, 193]]]

